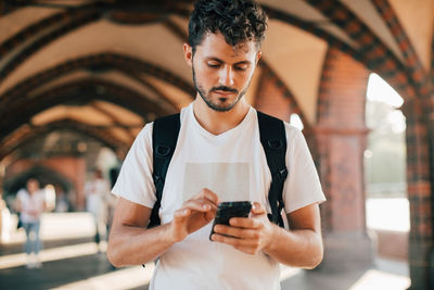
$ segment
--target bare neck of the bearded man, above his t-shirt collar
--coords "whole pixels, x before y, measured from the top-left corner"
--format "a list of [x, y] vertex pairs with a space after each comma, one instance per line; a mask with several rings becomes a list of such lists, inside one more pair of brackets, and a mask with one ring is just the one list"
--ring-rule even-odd
[[196, 96], [193, 102], [194, 116], [199, 124], [213, 135], [220, 135], [237, 127], [248, 113], [250, 105], [241, 99], [230, 111], [218, 112], [210, 109]]

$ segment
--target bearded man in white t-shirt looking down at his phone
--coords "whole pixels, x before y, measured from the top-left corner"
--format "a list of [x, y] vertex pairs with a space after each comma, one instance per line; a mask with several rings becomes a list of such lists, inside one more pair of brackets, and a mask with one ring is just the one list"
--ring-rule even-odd
[[[115, 266], [159, 257], [150, 289], [280, 289], [279, 262], [312, 268], [322, 260], [318, 203], [324, 200], [299, 130], [285, 124], [289, 177], [283, 189], [290, 230], [269, 222], [271, 181], [256, 111], [242, 98], [261, 55], [267, 17], [247, 0], [200, 0], [184, 58], [197, 90], [181, 112], [159, 216], [155, 202], [152, 126], [131, 147], [113, 192], [120, 196], [107, 255]], [[221, 201], [254, 202], [247, 218], [216, 226]], [[231, 237], [229, 237], [231, 236]]]

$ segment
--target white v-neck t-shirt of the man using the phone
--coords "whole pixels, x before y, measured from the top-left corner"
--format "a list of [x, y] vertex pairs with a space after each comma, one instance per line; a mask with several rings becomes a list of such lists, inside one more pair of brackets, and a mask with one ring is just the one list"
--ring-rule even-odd
[[[153, 207], [152, 127], [138, 135], [122, 167], [113, 193]], [[285, 212], [324, 201], [318, 174], [301, 131], [285, 123], [289, 176], [283, 188]], [[195, 119], [193, 105], [181, 111], [177, 148], [167, 171], [159, 216], [173, 219], [182, 202], [208, 188], [221, 201], [267, 202], [271, 175], [256, 111], [251, 108], [235, 128], [218, 136]], [[212, 223], [167, 250], [157, 263], [150, 289], [280, 289], [279, 264], [259, 252], [248, 255], [209, 241]]]

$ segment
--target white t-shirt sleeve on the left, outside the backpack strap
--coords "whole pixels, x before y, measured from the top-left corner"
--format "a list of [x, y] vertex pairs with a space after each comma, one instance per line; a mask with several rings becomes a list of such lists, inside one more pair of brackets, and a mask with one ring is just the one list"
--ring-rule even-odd
[[131, 202], [153, 207], [156, 201], [152, 179], [152, 127], [146, 124], [132, 143], [112, 192]]

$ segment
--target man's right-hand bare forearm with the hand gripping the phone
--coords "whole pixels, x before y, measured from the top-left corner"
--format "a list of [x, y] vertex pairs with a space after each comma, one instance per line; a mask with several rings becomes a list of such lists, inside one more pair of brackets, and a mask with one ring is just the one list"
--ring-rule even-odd
[[215, 231], [230, 235], [213, 236], [213, 240], [228, 243], [245, 253], [264, 251], [282, 264], [314, 268], [322, 261], [320, 215], [317, 204], [288, 214], [291, 230], [283, 229], [267, 218], [264, 206], [255, 203], [253, 217], [231, 218], [230, 227], [216, 226]]

